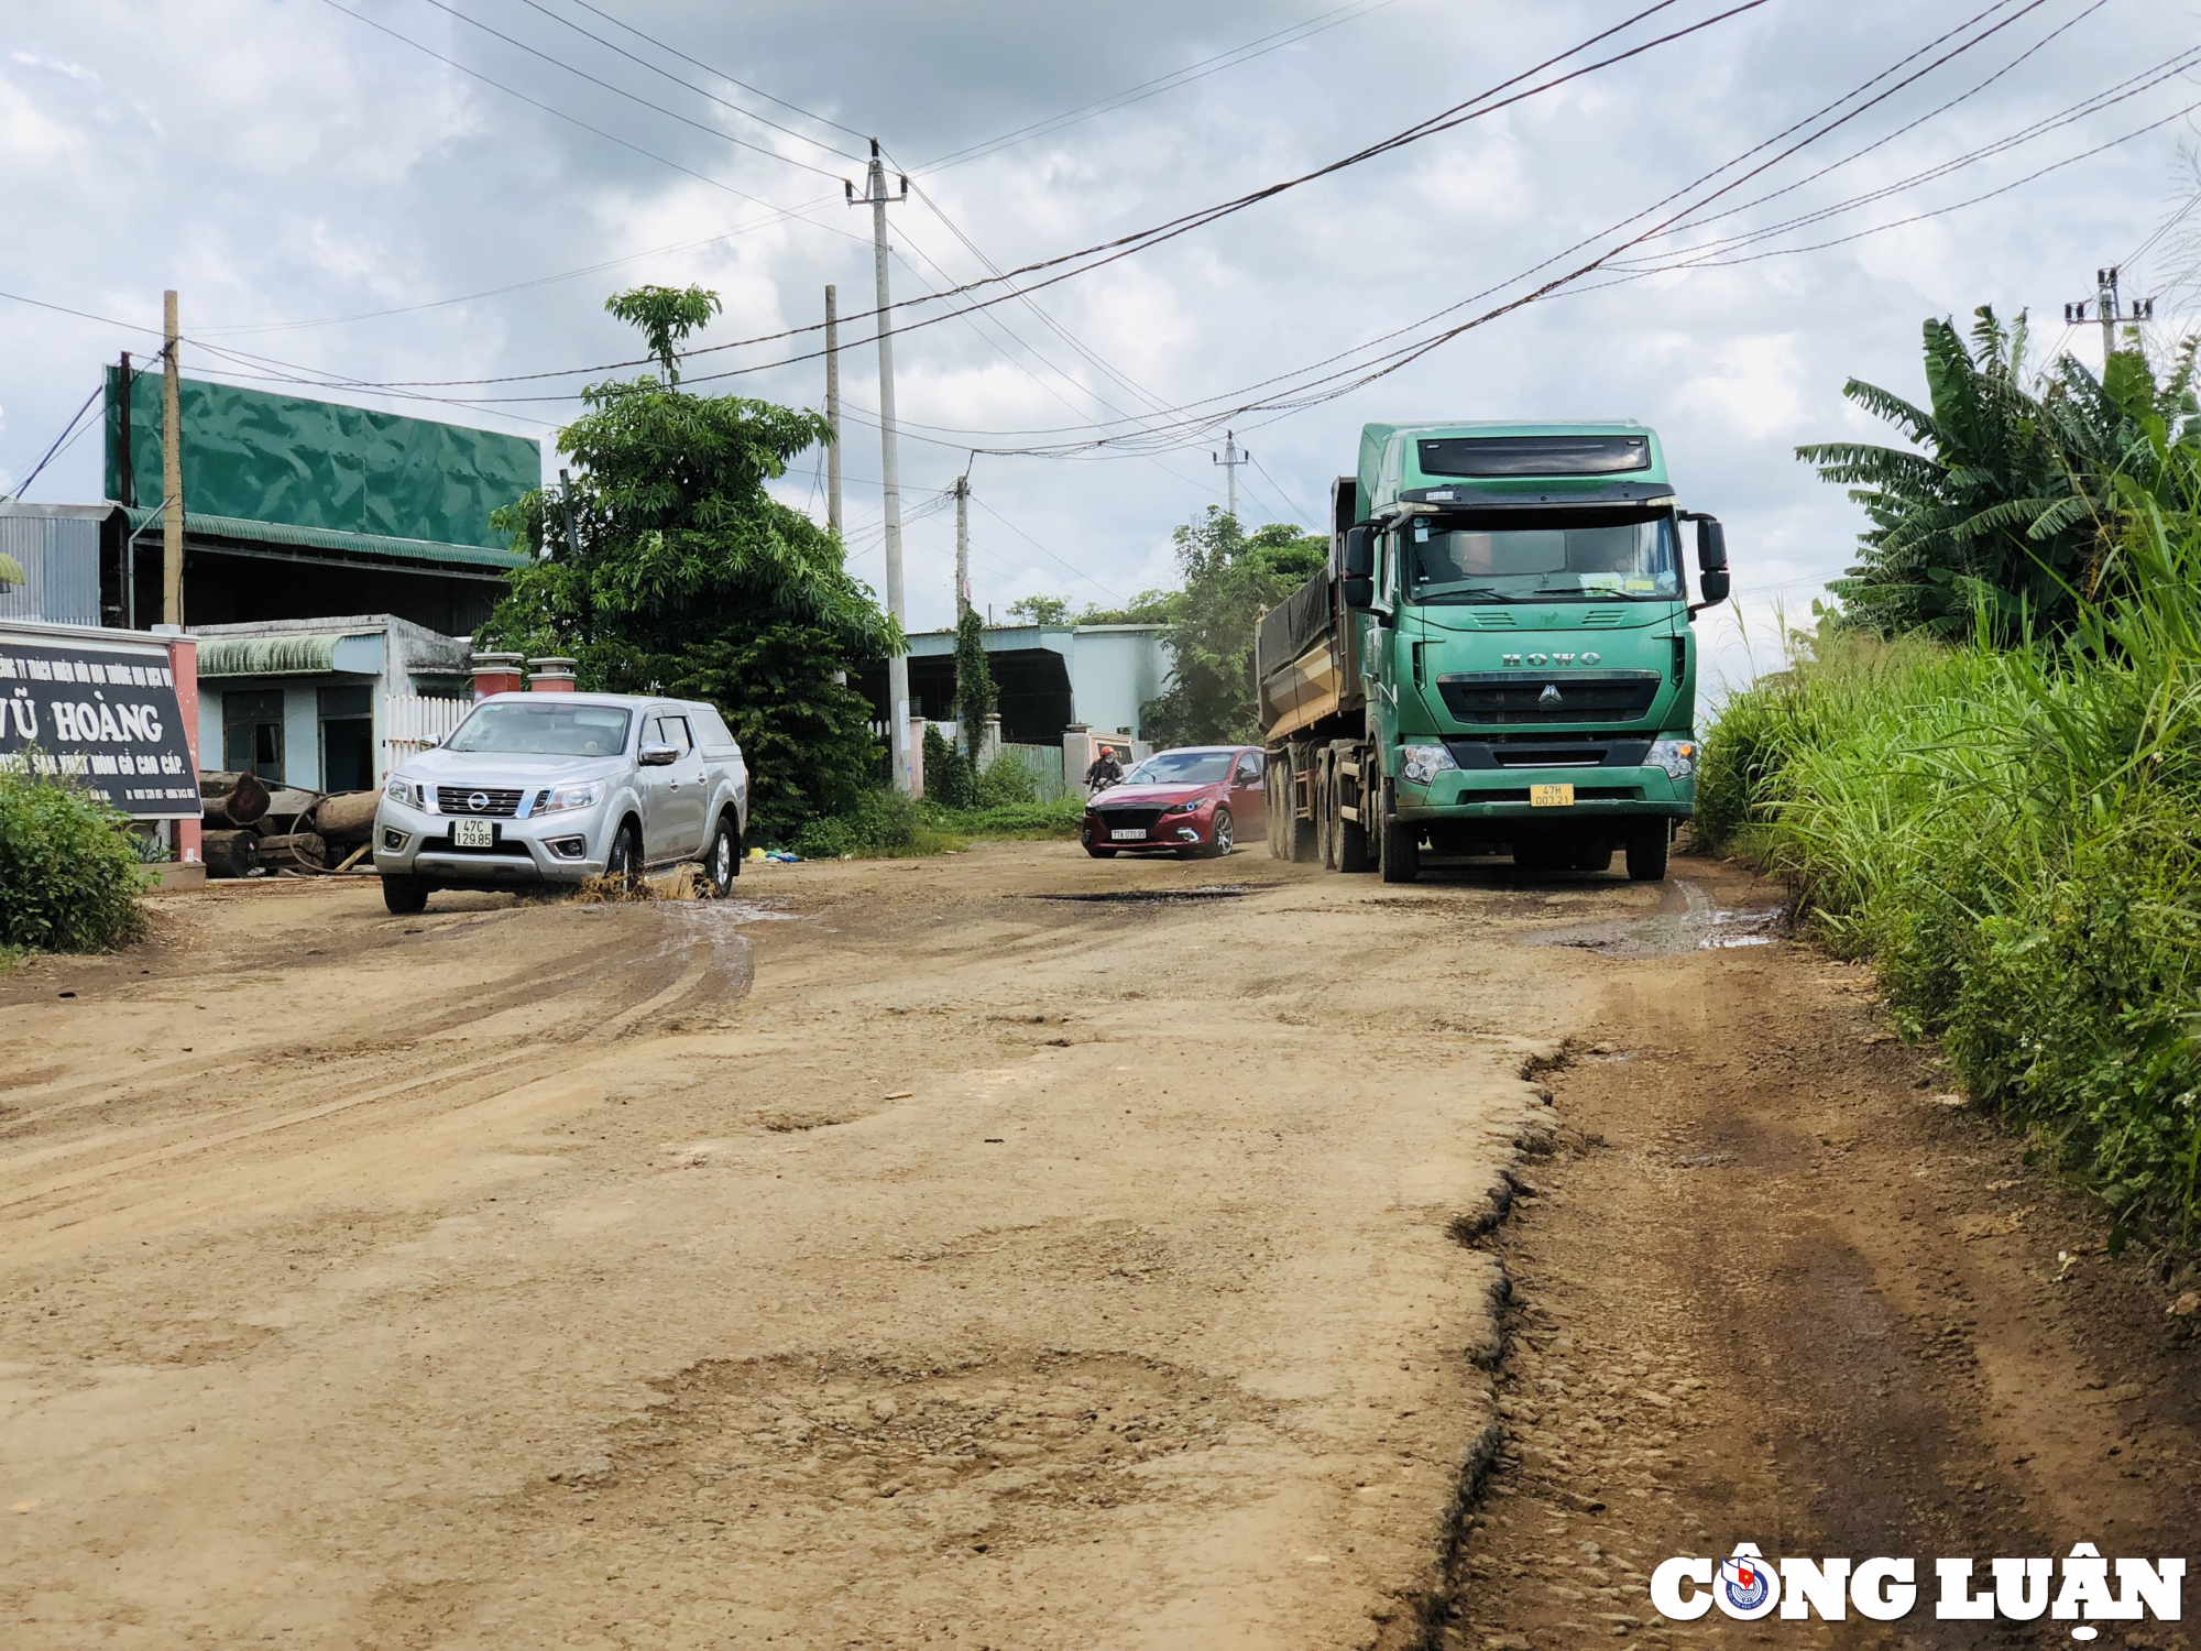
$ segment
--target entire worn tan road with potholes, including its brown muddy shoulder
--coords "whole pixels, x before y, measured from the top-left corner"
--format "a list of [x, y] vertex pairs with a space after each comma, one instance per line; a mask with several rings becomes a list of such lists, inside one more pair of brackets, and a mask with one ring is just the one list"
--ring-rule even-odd
[[0, 980], [0, 1638], [1545, 1647], [1699, 1534], [2190, 1532], [2192, 1321], [1682, 874], [165, 903]]

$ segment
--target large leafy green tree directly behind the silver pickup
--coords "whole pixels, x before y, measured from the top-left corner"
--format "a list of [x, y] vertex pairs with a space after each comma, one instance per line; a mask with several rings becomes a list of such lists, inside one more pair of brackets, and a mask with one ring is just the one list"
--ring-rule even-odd
[[[671, 295], [685, 308], [651, 293], [665, 288], [621, 295], [634, 302], [614, 299], [614, 313], [669, 350], [707, 306], [693, 288]], [[588, 412], [559, 431], [577, 467], [579, 550], [563, 500], [535, 491], [500, 511], [533, 561], [513, 572], [482, 643], [570, 654], [585, 689], [718, 704], [748, 757], [751, 832], [790, 841], [869, 781], [878, 742], [847, 676], [902, 638], [850, 577], [841, 542], [764, 491], [795, 453], [830, 440], [825, 420], [693, 396], [671, 385], [674, 370], [583, 390]]]

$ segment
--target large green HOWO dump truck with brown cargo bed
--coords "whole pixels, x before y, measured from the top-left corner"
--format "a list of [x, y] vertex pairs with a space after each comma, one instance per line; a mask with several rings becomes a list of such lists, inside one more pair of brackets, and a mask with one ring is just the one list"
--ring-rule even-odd
[[1620, 850], [1664, 878], [1697, 797], [1690, 621], [1726, 597], [1726, 535], [1642, 425], [1369, 425], [1329, 566], [1255, 643], [1270, 850], [1387, 883]]

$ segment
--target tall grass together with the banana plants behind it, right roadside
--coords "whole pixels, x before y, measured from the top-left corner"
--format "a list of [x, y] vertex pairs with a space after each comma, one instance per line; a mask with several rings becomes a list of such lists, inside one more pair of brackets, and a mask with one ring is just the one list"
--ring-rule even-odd
[[1840, 608], [1706, 740], [1699, 828], [1871, 958], [1906, 1035], [2131, 1233], [2201, 1239], [2201, 416], [1926, 328], [1919, 451], [1803, 449], [1871, 528]]

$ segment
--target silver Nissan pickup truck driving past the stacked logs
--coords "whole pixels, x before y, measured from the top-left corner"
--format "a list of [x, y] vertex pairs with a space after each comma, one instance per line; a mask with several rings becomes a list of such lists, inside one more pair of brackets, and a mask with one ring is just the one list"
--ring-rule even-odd
[[398, 764], [374, 810], [383, 905], [434, 889], [632, 878], [702, 861], [742, 874], [748, 766], [709, 704], [627, 693], [493, 693]]

